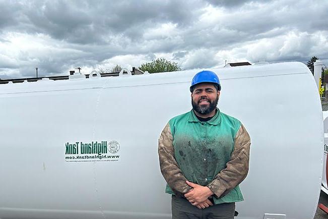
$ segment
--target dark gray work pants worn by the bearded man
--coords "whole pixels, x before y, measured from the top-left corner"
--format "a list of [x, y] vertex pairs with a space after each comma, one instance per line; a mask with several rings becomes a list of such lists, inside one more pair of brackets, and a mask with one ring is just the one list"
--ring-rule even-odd
[[187, 199], [172, 195], [172, 219], [233, 219], [235, 203], [215, 204], [199, 209]]

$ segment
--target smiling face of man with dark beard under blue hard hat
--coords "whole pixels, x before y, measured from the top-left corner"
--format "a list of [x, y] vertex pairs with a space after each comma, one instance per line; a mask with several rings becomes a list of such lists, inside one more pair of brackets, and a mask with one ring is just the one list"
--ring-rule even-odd
[[191, 93], [191, 104], [195, 112], [199, 114], [209, 114], [216, 108], [220, 96], [215, 85], [211, 83], [201, 83], [194, 87]]

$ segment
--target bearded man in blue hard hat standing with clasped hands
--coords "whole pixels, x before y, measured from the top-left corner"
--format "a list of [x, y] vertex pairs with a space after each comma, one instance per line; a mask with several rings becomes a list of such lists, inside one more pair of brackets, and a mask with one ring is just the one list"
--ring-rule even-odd
[[172, 218], [234, 218], [243, 201], [250, 138], [244, 126], [217, 108], [221, 84], [212, 71], [190, 86], [192, 110], [172, 118], [159, 138], [161, 172], [172, 194]]

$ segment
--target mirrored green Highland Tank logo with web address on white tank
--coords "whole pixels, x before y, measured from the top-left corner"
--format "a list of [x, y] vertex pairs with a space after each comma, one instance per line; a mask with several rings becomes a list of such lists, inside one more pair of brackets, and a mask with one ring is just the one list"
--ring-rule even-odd
[[117, 141], [65, 142], [65, 160], [81, 161], [119, 161], [120, 145]]

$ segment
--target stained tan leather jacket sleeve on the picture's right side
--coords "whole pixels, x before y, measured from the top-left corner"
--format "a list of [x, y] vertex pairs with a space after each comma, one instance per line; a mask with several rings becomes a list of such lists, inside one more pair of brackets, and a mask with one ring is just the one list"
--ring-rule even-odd
[[219, 198], [240, 184], [248, 173], [250, 137], [243, 125], [235, 136], [234, 144], [234, 151], [227, 162], [227, 167], [207, 185]]

